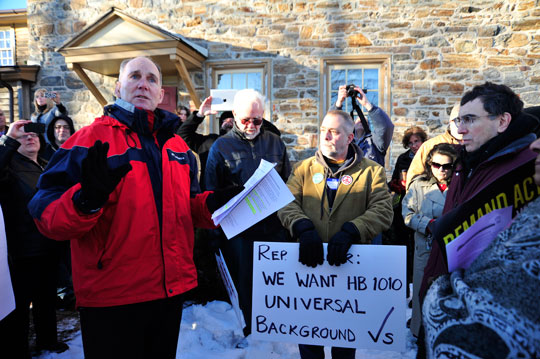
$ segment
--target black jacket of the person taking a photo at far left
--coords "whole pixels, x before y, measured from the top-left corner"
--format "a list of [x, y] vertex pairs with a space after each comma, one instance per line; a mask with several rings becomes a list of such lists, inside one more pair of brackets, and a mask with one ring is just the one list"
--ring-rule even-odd
[[0, 145], [0, 204], [8, 254], [12, 258], [52, 254], [57, 244], [38, 231], [27, 208], [47, 162], [39, 158], [40, 164], [35, 163], [17, 152], [19, 146], [10, 137]]

